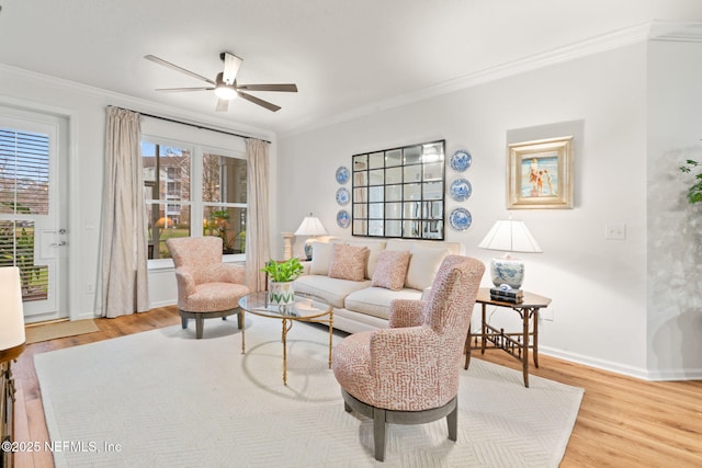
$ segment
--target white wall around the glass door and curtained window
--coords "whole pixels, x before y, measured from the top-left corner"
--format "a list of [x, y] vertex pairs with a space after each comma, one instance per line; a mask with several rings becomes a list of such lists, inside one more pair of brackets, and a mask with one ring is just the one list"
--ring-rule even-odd
[[[105, 135], [105, 109], [124, 106], [165, 115], [176, 119], [197, 122], [234, 133], [252, 135], [272, 140], [271, 157], [275, 158], [274, 135], [270, 132], [233, 125], [202, 115], [185, 113], [171, 107], [150, 104], [120, 94], [79, 85], [60, 79], [26, 72], [0, 65], [0, 107], [15, 107], [38, 113], [66, 116], [69, 119], [70, 151], [65, 162], [69, 164], [69, 199], [61, 201], [61, 209], [68, 210], [69, 228], [69, 317], [73, 320], [92, 318], [99, 313], [99, 300], [93, 290], [100, 284], [100, 227], [102, 219], [103, 160]], [[154, 128], [159, 124], [151, 123]], [[181, 127], [180, 134], [190, 127]], [[147, 129], [148, 130], [148, 129]], [[190, 129], [194, 130], [194, 129]], [[150, 130], [149, 130], [150, 132]], [[151, 132], [152, 133], [152, 132]], [[275, 187], [272, 187], [272, 196]], [[273, 207], [274, 208], [274, 207]], [[275, 212], [273, 212], [274, 216]], [[156, 270], [149, 275], [152, 306], [176, 304], [177, 290], [172, 272]]]

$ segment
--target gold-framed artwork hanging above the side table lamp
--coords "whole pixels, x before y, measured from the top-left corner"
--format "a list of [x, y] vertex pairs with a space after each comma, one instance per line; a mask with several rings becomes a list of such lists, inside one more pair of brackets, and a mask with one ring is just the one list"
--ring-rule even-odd
[[573, 208], [573, 137], [508, 146], [507, 208]]

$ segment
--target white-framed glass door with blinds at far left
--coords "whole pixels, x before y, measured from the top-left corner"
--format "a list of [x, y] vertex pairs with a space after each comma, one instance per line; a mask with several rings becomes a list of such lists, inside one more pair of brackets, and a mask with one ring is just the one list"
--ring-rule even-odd
[[58, 214], [59, 125], [1, 113], [0, 266], [20, 267], [25, 321], [64, 318], [68, 236]]

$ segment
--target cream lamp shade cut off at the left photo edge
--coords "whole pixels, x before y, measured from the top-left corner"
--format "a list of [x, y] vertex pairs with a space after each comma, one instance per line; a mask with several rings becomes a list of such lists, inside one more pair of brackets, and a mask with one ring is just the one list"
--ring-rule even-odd
[[20, 269], [0, 267], [0, 351], [24, 344], [24, 310]]

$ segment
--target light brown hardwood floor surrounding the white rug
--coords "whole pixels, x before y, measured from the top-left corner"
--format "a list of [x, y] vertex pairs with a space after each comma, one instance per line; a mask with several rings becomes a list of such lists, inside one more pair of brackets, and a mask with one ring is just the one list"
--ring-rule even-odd
[[[180, 323], [174, 307], [117, 319], [97, 319], [99, 332], [31, 344], [13, 365], [18, 387], [15, 441], [48, 441], [34, 354]], [[475, 352], [474, 352], [475, 353]], [[500, 351], [480, 356], [517, 370]], [[537, 375], [585, 388], [562, 467], [702, 466], [702, 380], [652, 383], [540, 355]], [[16, 454], [15, 466], [50, 467], [50, 453]]]

